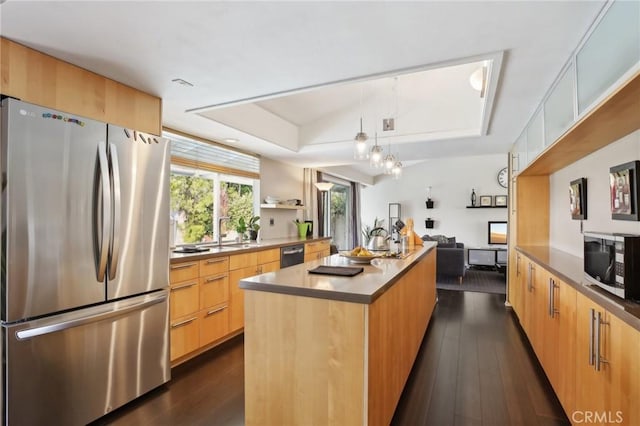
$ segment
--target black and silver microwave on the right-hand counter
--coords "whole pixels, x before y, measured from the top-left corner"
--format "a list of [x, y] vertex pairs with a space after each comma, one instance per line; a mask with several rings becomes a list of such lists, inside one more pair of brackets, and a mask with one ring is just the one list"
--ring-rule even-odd
[[640, 300], [640, 235], [585, 232], [584, 275], [616, 296]]

